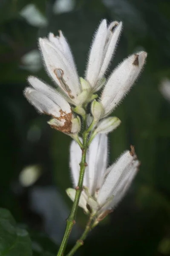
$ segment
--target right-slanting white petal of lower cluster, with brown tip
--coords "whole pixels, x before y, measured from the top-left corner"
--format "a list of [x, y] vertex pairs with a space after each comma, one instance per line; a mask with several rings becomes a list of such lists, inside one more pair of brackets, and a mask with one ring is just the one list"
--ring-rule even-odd
[[130, 173], [134, 172], [133, 166], [136, 166], [136, 163], [138, 163], [136, 155], [126, 151], [116, 163], [109, 167], [103, 186], [98, 193], [99, 204], [107, 203], [107, 200], [113, 195], [118, 196], [118, 192], [124, 189], [127, 177], [129, 177]]

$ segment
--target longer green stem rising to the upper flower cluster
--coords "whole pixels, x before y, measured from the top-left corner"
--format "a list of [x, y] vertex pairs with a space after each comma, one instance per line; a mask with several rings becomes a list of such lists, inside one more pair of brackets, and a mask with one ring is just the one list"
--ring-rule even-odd
[[83, 148], [81, 148], [82, 157], [81, 157], [81, 163], [80, 163], [80, 176], [79, 176], [79, 180], [78, 180], [78, 186], [75, 188], [76, 189], [75, 200], [72, 205], [72, 209], [71, 209], [69, 218], [66, 220], [67, 221], [66, 230], [65, 230], [63, 240], [61, 242], [61, 246], [60, 246], [57, 256], [63, 256], [63, 253], [66, 249], [66, 245], [67, 245], [67, 242], [69, 239], [69, 235], [72, 231], [72, 227], [75, 224], [75, 217], [76, 217], [76, 213], [77, 213], [77, 209], [78, 209], [78, 203], [80, 200], [81, 191], [83, 190], [84, 172], [85, 172], [85, 168], [86, 168], [86, 151], [87, 151], [87, 147], [88, 147], [88, 141], [87, 141], [88, 135], [89, 135], [89, 131], [88, 132], [84, 131], [84, 133], [83, 133]]

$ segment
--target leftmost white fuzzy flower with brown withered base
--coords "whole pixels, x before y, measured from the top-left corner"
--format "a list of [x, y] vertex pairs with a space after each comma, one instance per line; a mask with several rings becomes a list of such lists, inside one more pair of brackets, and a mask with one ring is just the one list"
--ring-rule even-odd
[[40, 113], [53, 117], [49, 121], [49, 125], [67, 134], [72, 133], [72, 130], [75, 131], [75, 125], [73, 127], [72, 124], [74, 116], [69, 103], [52, 87], [36, 77], [29, 76], [28, 81], [32, 87], [27, 87], [24, 90], [24, 95]]

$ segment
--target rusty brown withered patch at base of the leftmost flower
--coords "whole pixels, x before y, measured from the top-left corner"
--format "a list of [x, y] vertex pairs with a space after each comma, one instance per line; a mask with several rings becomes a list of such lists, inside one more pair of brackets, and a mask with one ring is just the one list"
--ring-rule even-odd
[[[62, 112], [64, 113], [64, 112]], [[53, 116], [53, 118], [57, 119], [58, 121], [63, 121], [63, 119], [65, 120], [65, 123], [63, 126], [57, 126], [57, 125], [52, 125], [50, 124], [50, 126], [52, 128], [54, 128], [55, 130], [58, 130], [58, 131], [62, 131], [66, 134], [70, 134], [71, 133], [71, 130], [72, 130], [72, 113], [68, 113], [68, 114], [64, 114], [64, 115], [61, 115], [60, 117], [55, 117]]]

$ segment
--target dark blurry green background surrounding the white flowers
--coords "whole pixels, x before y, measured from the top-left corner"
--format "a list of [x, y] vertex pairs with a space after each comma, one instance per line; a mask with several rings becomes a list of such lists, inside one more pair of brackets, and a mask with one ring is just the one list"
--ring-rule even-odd
[[[124, 29], [110, 71], [127, 55], [148, 52], [144, 71], [113, 113], [121, 126], [109, 134], [109, 163], [135, 145], [140, 171], [121, 204], [98, 225], [76, 255], [170, 255], [170, 102], [159, 91], [170, 78], [170, 1], [0, 0], [0, 207], [29, 230], [33, 255], [57, 253], [72, 205], [66, 188], [71, 139], [49, 127], [23, 96], [43, 69], [37, 38], [58, 29], [68, 39], [80, 76], [101, 19]], [[109, 73], [108, 73], [109, 74]], [[32, 182], [29, 179], [32, 178]], [[69, 248], [87, 221], [79, 209]]]

